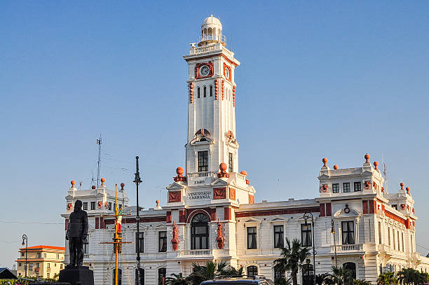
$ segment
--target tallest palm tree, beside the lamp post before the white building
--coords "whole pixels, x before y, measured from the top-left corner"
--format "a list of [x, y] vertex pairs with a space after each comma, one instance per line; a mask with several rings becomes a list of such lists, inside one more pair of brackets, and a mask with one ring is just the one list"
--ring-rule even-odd
[[293, 239], [291, 245], [290, 240], [286, 238], [286, 246], [282, 247], [280, 250], [280, 255], [282, 257], [274, 260], [274, 264], [281, 270], [290, 270], [292, 273], [292, 284], [297, 285], [298, 271], [302, 268], [302, 263], [306, 259], [310, 249], [306, 246], [302, 246], [299, 239]]

